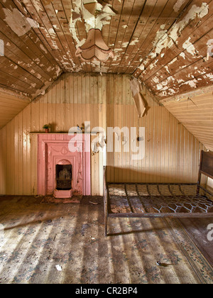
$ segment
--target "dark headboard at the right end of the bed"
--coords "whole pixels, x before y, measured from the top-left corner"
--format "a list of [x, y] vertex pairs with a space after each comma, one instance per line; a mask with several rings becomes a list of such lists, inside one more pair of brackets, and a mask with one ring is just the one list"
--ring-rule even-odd
[[201, 151], [198, 184], [200, 184], [201, 174], [213, 179], [213, 152]]

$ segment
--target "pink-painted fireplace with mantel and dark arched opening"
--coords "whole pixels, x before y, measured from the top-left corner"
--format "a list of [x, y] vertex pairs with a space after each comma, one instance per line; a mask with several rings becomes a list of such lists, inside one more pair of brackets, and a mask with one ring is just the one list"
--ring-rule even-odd
[[55, 198], [91, 194], [89, 134], [38, 134], [38, 194]]

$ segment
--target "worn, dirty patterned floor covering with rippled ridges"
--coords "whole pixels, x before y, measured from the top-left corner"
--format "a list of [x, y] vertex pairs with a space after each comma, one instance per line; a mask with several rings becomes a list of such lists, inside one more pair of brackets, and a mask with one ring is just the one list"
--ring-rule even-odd
[[0, 198], [0, 282], [212, 284], [213, 268], [177, 219], [110, 219], [101, 197], [81, 204]]

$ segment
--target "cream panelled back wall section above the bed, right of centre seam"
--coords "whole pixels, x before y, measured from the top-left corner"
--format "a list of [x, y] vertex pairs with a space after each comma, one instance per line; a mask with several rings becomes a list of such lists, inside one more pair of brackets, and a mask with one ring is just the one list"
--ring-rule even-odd
[[[110, 78], [109, 78], [110, 79]], [[118, 82], [116, 80], [116, 82]], [[126, 86], [129, 86], [126, 77]], [[148, 114], [138, 120], [131, 95], [124, 89], [123, 99], [111, 101], [116, 84], [109, 89], [107, 105], [107, 126], [120, 128], [138, 126], [145, 128], [145, 158], [133, 160], [133, 152], [107, 153], [109, 166], [108, 180], [114, 182], [197, 182], [200, 150], [204, 145], [187, 131], [164, 106], [154, 100], [153, 95], [144, 88], [143, 95], [150, 109]], [[120, 106], [121, 105], [121, 109]], [[121, 113], [120, 113], [121, 111]], [[122, 134], [121, 134], [122, 139]], [[130, 137], [130, 145], [133, 137]], [[202, 180], [205, 183], [205, 180]]]

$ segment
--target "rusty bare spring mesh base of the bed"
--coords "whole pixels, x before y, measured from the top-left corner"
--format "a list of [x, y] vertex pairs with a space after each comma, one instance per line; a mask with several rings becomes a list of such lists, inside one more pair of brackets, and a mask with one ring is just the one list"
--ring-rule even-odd
[[111, 213], [212, 213], [213, 194], [197, 184], [109, 183]]

